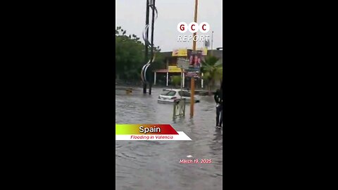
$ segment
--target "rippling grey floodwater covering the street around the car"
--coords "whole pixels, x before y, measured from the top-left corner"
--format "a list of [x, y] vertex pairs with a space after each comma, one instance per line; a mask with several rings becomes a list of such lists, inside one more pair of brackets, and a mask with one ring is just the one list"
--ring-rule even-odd
[[[118, 190], [223, 189], [223, 130], [215, 128], [213, 96], [200, 96], [194, 118], [173, 121], [173, 105], [158, 103], [162, 89], [127, 95], [115, 89], [116, 124], [170, 124], [192, 141], [115, 141], [115, 184]], [[192, 156], [192, 158], [187, 158]], [[212, 163], [180, 163], [181, 159], [211, 159]]]

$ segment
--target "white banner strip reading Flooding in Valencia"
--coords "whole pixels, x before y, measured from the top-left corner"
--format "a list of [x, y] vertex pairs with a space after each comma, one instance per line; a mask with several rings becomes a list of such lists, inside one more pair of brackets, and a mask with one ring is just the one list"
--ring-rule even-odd
[[116, 141], [191, 141], [184, 132], [178, 134], [116, 134]]

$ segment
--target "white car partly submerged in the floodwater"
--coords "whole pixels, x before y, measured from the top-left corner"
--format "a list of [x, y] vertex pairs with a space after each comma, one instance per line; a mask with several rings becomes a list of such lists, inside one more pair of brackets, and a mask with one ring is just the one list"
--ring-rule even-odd
[[[175, 99], [185, 99], [186, 103], [190, 103], [190, 92], [181, 89], [165, 89], [163, 93], [158, 96], [157, 101], [162, 103], [173, 103]], [[199, 102], [199, 98], [194, 96], [194, 101]]]

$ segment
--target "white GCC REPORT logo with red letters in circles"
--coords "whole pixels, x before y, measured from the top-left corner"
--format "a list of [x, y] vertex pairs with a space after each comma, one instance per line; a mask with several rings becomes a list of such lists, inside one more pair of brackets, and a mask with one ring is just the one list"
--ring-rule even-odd
[[[185, 33], [188, 30], [191, 33], [195, 33], [195, 32], [198, 32], [198, 31], [200, 31], [201, 33], [206, 33], [206, 32], [209, 32], [210, 25], [206, 22], [203, 22], [203, 23], [200, 23], [200, 24], [192, 22], [189, 25], [187, 23], [184, 23], [184, 22], [178, 23], [178, 25], [177, 25], [177, 31], [178, 32]], [[210, 37], [210, 35], [203, 35], [203, 34], [202, 35], [196, 35], [196, 36], [193, 36], [192, 34], [178, 35], [177, 42], [189, 42], [190, 39], [194, 40], [195, 42], [196, 41], [204, 42], [205, 40], [206, 41], [208, 40], [208, 37]]]

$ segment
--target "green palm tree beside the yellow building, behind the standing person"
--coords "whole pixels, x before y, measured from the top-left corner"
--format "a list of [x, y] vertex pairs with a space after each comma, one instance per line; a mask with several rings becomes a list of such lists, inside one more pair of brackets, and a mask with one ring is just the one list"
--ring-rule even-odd
[[203, 80], [208, 84], [209, 96], [211, 95], [211, 89], [215, 87], [215, 81], [222, 80], [223, 78], [223, 63], [220, 62], [220, 58], [215, 56], [207, 56], [202, 61], [201, 72], [203, 73]]

